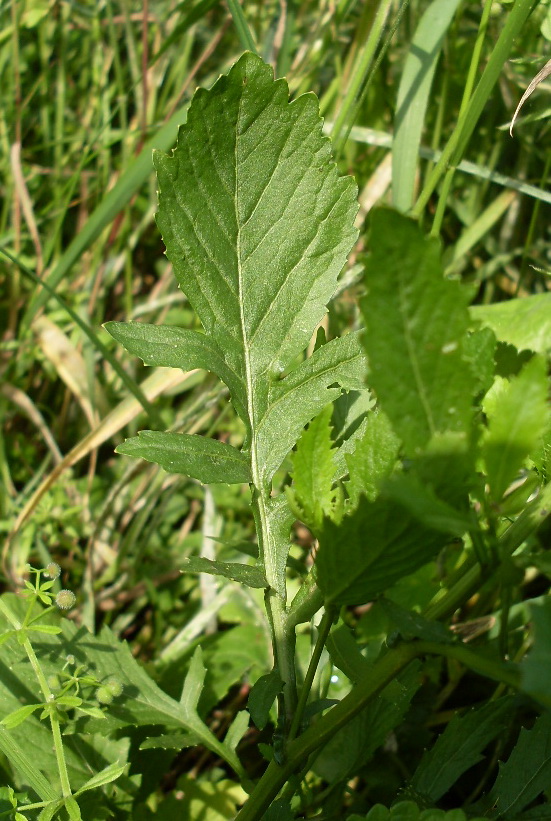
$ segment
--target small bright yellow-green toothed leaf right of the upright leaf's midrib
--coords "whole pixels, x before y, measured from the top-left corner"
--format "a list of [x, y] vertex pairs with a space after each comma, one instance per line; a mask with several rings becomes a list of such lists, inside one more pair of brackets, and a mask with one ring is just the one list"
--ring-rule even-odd
[[333, 407], [328, 405], [299, 439], [293, 455], [293, 485], [287, 489], [295, 515], [314, 533], [321, 528], [324, 516], [331, 518], [340, 499], [340, 490], [333, 487], [332, 413]]

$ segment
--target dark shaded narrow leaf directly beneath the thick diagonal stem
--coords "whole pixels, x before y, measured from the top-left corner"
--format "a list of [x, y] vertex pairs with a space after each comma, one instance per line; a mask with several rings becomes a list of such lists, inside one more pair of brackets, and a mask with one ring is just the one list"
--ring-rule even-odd
[[335, 733], [313, 765], [318, 775], [334, 784], [369, 761], [401, 721], [419, 689], [420, 668], [418, 661], [410, 664], [353, 722]]

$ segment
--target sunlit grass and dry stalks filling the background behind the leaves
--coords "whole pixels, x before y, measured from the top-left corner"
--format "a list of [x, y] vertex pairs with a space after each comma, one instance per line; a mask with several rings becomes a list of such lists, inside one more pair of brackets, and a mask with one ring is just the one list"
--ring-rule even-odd
[[[26, 562], [57, 562], [59, 583], [77, 595], [76, 623], [92, 631], [108, 625], [176, 698], [200, 644], [208, 671], [200, 713], [217, 736], [270, 667], [262, 600], [257, 591], [182, 575], [180, 568], [198, 553], [231, 558], [251, 540], [248, 492], [205, 488], [114, 454], [143, 427], [237, 444], [241, 437], [227, 392], [211, 376], [150, 372], [102, 329], [123, 319], [196, 324], [154, 224], [152, 148], [172, 147], [195, 88], [210, 87], [248, 43], [277, 76], [287, 76], [293, 96], [318, 95], [340, 170], [359, 186], [360, 235], [330, 306], [329, 336], [360, 325], [369, 212], [381, 199], [413, 209], [425, 231], [440, 238], [446, 273], [471, 286], [475, 303], [545, 293], [545, 84], [514, 139], [508, 127], [545, 60], [551, 6], [442, 2], [419, 29], [436, 5], [247, 0], [240, 11], [231, 0], [12, 0], [0, 9], [0, 250], [9, 255], [0, 262], [4, 590], [20, 585]], [[432, 85], [409, 89], [418, 105], [405, 117], [400, 94], [416, 76], [408, 54], [419, 57], [427, 44], [421, 59], [435, 69]], [[437, 164], [442, 149], [452, 171]], [[548, 340], [547, 330], [543, 351]], [[542, 544], [545, 538], [543, 529]], [[294, 541], [292, 558], [303, 562], [312, 537], [297, 524]], [[517, 603], [547, 590], [548, 571], [541, 562], [515, 594]], [[412, 605], [424, 603], [419, 590], [433, 572], [431, 566], [410, 580]], [[496, 583], [461, 620], [489, 618], [498, 600]], [[349, 625], [362, 642], [387, 630], [361, 609], [350, 610]], [[306, 667], [308, 629], [298, 652]], [[333, 674], [326, 659], [321, 675]], [[346, 685], [334, 679], [338, 697]], [[390, 804], [433, 728], [489, 691], [453, 662], [428, 665], [399, 740], [391, 736], [379, 749], [369, 781], [361, 772], [353, 784], [346, 781], [346, 768], [336, 778], [333, 765], [322, 762], [303, 786], [307, 817], [322, 817], [322, 808], [323, 817], [339, 818], [344, 806], [365, 813], [378, 801]], [[258, 744], [270, 742], [271, 729], [252, 728], [241, 742], [251, 778], [262, 771]], [[136, 731], [132, 750], [145, 736]], [[475, 800], [502, 749], [475, 781], [459, 782], [450, 807]], [[161, 812], [162, 804], [164, 818], [214, 821], [233, 817], [243, 800], [241, 785], [203, 748], [142, 750], [129, 758], [134, 785], [124, 800], [133, 818]], [[13, 783], [7, 760], [0, 775]], [[174, 789], [184, 793], [184, 807]], [[110, 800], [113, 812], [128, 811]], [[201, 814], [205, 808], [210, 815]]]

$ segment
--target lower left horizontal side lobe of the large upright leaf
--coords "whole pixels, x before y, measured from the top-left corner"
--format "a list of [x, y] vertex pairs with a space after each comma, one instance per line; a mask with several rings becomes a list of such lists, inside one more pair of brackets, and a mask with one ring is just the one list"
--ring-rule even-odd
[[249, 461], [243, 453], [204, 436], [142, 430], [119, 445], [117, 453], [141, 456], [165, 470], [193, 476], [204, 484], [251, 481]]

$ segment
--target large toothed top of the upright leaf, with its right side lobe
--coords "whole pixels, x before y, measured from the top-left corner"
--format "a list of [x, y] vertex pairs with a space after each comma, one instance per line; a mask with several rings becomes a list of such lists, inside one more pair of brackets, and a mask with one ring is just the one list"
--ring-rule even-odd
[[323, 317], [354, 242], [355, 185], [337, 175], [315, 97], [289, 103], [285, 81], [253, 54], [195, 94], [174, 152], [157, 154], [155, 166], [167, 255], [246, 397], [260, 486], [304, 425], [361, 384], [353, 335], [280, 378]]

